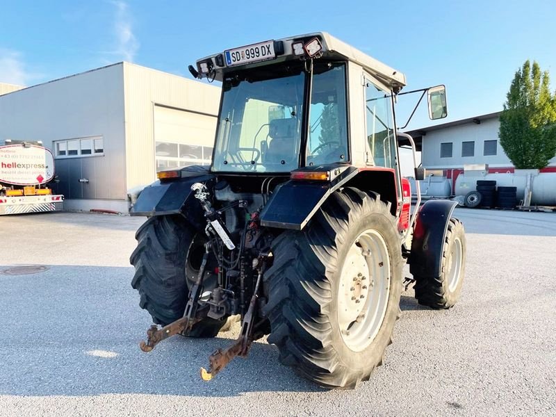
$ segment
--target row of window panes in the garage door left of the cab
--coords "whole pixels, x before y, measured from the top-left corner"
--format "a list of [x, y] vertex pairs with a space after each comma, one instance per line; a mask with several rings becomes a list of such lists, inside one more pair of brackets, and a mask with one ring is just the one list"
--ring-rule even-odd
[[189, 165], [211, 165], [213, 147], [186, 143], [156, 142], [156, 172]]

